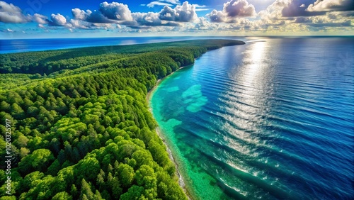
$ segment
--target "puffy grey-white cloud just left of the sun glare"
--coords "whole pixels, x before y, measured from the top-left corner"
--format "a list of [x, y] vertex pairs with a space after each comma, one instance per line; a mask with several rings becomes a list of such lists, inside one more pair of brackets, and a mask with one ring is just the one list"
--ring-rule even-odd
[[213, 10], [207, 14], [212, 22], [232, 22], [236, 17], [256, 16], [256, 10], [246, 0], [232, 0], [224, 4], [222, 11]]

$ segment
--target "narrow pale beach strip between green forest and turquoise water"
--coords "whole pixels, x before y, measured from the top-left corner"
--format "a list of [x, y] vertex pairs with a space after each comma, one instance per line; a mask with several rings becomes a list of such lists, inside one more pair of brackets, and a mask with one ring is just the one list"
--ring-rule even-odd
[[[185, 67], [191, 67], [193, 66], [194, 63], [192, 65], [186, 65], [186, 66], [183, 66], [183, 67], [179, 67], [176, 71], [174, 72], [177, 72], [178, 70], [181, 70]], [[150, 113], [152, 113], [152, 116], [154, 117], [154, 113], [152, 112], [152, 107], [150, 106], [150, 100], [152, 98], [152, 94], [154, 94], [154, 91], [157, 89], [157, 87], [159, 87], [159, 84], [161, 84], [162, 81], [164, 81], [164, 79], [170, 77], [174, 72], [171, 72], [171, 74], [167, 75], [166, 77], [162, 78], [162, 79], [158, 79], [155, 86], [152, 87], [152, 89], [150, 89], [148, 92], [147, 92], [147, 105], [149, 106], [149, 111]], [[185, 196], [187, 196], [188, 200], [192, 200], [192, 199], [196, 199], [196, 198], [192, 198], [192, 195], [191, 195], [191, 192], [190, 192], [190, 189], [188, 189], [188, 187], [186, 187], [186, 184], [185, 184], [185, 177], [183, 177], [182, 173], [180, 172], [180, 170], [178, 169], [178, 163], [176, 162], [176, 159], [173, 157], [173, 154], [172, 154], [172, 151], [171, 149], [169, 148], [169, 145], [167, 144], [166, 140], [164, 139], [164, 137], [162, 136], [163, 135], [163, 130], [161, 130], [160, 126], [158, 125], [156, 128], [155, 128], [155, 131], [156, 131], [156, 134], [159, 135], [159, 138], [161, 138], [162, 142], [164, 143], [164, 145], [166, 146], [166, 151], [167, 153], [169, 154], [169, 159], [173, 162], [173, 164], [176, 166], [176, 175], [178, 177], [178, 185], [182, 188]]]

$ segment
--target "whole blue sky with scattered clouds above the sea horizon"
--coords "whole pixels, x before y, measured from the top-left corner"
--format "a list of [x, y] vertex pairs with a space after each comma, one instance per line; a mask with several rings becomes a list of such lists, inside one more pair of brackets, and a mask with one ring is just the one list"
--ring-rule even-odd
[[7, 0], [0, 39], [354, 35], [354, 0]]

